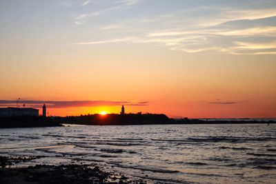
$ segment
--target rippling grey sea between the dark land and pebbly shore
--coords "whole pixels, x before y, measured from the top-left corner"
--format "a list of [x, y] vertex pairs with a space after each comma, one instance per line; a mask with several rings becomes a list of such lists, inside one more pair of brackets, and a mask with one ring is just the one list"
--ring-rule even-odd
[[97, 163], [148, 183], [276, 183], [276, 124], [0, 129], [19, 166]]

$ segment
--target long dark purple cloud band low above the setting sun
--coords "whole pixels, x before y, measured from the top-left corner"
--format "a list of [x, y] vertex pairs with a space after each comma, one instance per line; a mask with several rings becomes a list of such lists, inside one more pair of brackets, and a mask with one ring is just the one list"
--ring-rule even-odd
[[[48, 108], [73, 108], [73, 107], [93, 107], [93, 106], [116, 106], [116, 105], [131, 105], [142, 106], [148, 105], [148, 101], [19, 101], [20, 104], [26, 104], [32, 108], [41, 108], [41, 105], [46, 104]], [[16, 105], [17, 101], [0, 100], [1, 107]]]

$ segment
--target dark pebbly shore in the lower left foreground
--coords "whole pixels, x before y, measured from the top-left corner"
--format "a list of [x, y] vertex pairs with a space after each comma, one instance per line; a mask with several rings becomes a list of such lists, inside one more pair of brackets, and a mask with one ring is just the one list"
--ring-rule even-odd
[[35, 165], [7, 167], [37, 159], [36, 156], [0, 156], [0, 183], [146, 183], [124, 174], [105, 172], [97, 165]]

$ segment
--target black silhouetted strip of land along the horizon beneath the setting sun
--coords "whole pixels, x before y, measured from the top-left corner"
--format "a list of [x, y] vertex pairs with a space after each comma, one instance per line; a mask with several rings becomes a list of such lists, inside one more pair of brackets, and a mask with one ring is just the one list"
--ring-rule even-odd
[[166, 114], [88, 114], [81, 116], [0, 117], [0, 128], [79, 125], [245, 124], [276, 123], [273, 119], [170, 119]]

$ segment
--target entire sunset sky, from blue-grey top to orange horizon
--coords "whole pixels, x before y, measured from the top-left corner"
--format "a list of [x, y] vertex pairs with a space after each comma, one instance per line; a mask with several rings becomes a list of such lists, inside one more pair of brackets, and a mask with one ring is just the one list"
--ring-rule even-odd
[[276, 1], [0, 0], [0, 107], [276, 117]]

